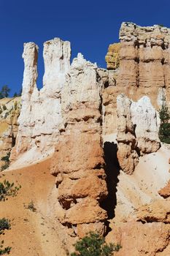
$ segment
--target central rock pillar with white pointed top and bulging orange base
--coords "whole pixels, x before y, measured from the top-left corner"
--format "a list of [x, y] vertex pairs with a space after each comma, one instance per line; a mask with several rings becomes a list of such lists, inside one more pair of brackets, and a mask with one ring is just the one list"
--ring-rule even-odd
[[[103, 76], [100, 76], [99, 73]], [[61, 223], [74, 235], [105, 231], [107, 197], [101, 140], [101, 87], [105, 72], [79, 54], [72, 62], [61, 94], [66, 132], [55, 148], [51, 173], [56, 176]], [[58, 206], [59, 207], [59, 206]]]

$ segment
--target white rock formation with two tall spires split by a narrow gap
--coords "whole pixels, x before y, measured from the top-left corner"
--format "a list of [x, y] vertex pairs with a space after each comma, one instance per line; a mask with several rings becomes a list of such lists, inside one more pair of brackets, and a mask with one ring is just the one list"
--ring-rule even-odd
[[63, 129], [61, 89], [69, 69], [70, 52], [69, 42], [58, 38], [45, 42], [44, 87], [39, 91], [36, 87], [38, 47], [34, 42], [24, 45], [22, 110], [11, 159], [17, 159], [20, 154], [30, 151], [31, 154], [26, 158], [28, 162], [34, 162], [54, 151], [58, 135]]

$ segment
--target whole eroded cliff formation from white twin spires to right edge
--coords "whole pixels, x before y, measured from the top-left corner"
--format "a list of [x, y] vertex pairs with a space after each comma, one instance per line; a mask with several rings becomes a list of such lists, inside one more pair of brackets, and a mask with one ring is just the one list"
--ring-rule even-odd
[[[160, 148], [156, 111], [164, 96], [169, 100], [169, 38], [160, 26], [123, 23], [120, 50], [109, 48], [118, 58], [107, 58], [109, 70], [81, 54], [70, 65], [69, 42], [47, 41], [41, 90], [38, 47], [24, 46], [12, 159], [30, 164], [54, 152], [55, 217], [72, 237], [104, 234], [109, 217], [107, 239], [123, 246], [117, 256], [169, 253], [169, 186], [162, 189], [169, 181], [169, 148]], [[158, 241], [154, 246], [150, 236]]]

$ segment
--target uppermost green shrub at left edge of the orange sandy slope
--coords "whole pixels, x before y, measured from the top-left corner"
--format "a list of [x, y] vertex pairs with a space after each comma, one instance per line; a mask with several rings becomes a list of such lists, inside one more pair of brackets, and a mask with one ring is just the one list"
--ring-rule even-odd
[[18, 195], [18, 190], [20, 188], [21, 186], [14, 187], [14, 183], [9, 183], [9, 181], [6, 180], [0, 182], [0, 201], [6, 200], [9, 196], [15, 197]]

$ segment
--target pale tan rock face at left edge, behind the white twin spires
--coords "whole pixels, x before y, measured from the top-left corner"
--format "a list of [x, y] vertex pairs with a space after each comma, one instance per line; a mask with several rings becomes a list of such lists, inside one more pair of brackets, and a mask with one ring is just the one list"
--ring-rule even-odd
[[[18, 116], [20, 115], [20, 97], [4, 98], [0, 100], [0, 159], [7, 156], [13, 146], [18, 133]], [[0, 161], [0, 166], [4, 165]]]

